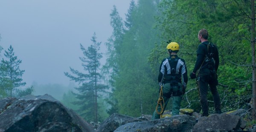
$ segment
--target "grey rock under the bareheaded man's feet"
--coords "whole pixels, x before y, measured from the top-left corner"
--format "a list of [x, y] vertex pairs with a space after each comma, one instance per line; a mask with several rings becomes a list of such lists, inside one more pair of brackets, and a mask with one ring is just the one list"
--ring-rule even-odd
[[212, 114], [209, 117], [201, 117], [195, 124], [193, 132], [206, 132], [206, 129], [240, 130], [241, 118], [230, 114]]

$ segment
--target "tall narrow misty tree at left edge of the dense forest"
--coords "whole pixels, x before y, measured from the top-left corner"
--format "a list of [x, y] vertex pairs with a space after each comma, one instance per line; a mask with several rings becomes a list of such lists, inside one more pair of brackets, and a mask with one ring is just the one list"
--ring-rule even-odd
[[107, 60], [104, 66], [105, 79], [108, 81], [109, 86], [111, 86], [111, 93], [109, 93], [109, 98], [106, 99], [107, 103], [111, 105], [111, 108], [107, 110], [109, 115], [118, 112], [117, 100], [113, 97], [115, 78], [117, 77], [118, 66], [117, 59], [120, 57], [121, 52], [119, 49], [120, 44], [123, 40], [123, 23], [122, 18], [119, 16], [119, 13], [116, 9], [116, 6], [113, 6], [113, 10], [110, 14], [111, 17], [111, 26], [113, 27], [113, 33], [108, 42], [105, 43], [107, 51]]

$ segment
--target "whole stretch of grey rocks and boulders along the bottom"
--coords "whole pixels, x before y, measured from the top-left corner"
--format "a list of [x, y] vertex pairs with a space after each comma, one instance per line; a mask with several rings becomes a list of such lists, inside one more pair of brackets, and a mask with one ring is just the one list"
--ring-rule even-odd
[[0, 100], [0, 132], [256, 132], [246, 128], [245, 109], [201, 117], [191, 109], [180, 115], [166, 111], [163, 118], [134, 118], [113, 114], [102, 123], [87, 123], [50, 95]]

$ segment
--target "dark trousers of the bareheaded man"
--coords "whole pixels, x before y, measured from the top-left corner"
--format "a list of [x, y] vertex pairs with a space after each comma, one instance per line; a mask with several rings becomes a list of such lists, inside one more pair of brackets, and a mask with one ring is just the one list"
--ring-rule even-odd
[[[218, 90], [216, 87], [216, 80], [217, 78], [212, 77], [211, 71], [209, 69], [202, 69], [198, 74], [198, 87], [200, 92], [200, 102], [202, 107], [202, 116], [209, 115], [209, 106], [208, 106], [208, 99], [207, 93], [208, 89], [212, 92], [212, 97], [214, 101], [215, 111], [221, 110], [221, 102], [220, 96], [218, 94]], [[209, 88], [208, 88], [209, 85]]]

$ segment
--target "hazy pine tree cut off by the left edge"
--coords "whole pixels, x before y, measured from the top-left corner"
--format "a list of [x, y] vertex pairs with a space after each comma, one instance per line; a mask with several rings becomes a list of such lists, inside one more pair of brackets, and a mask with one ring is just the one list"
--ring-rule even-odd
[[14, 90], [26, 85], [21, 78], [25, 70], [20, 70], [22, 61], [14, 55], [12, 46], [9, 47], [8, 51], [5, 51], [4, 56], [6, 60], [2, 59], [0, 64], [0, 94], [2, 97], [12, 97]]

